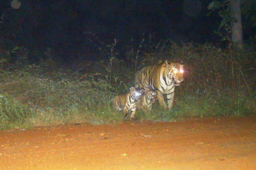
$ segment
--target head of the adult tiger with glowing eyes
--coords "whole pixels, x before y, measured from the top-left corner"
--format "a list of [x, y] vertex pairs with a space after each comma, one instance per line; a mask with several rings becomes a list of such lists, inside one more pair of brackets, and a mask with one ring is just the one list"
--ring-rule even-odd
[[183, 64], [180, 63], [170, 63], [166, 60], [167, 66], [167, 76], [169, 79], [172, 79], [175, 86], [179, 86], [183, 81]]

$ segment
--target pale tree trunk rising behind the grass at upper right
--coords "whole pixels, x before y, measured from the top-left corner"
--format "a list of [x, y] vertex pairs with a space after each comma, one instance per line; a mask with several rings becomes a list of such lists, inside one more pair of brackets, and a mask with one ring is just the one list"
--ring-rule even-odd
[[230, 15], [233, 20], [231, 22], [231, 41], [233, 47], [243, 48], [243, 31], [240, 0], [230, 0], [229, 3]]

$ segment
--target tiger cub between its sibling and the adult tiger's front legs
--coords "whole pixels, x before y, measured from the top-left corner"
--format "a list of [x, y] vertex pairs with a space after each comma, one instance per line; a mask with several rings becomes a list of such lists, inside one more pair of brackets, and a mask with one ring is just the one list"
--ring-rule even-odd
[[141, 96], [141, 101], [137, 105], [137, 109], [141, 109], [145, 113], [151, 113], [152, 103], [157, 100], [155, 90], [144, 90], [144, 94]]

